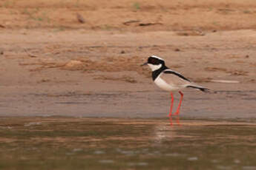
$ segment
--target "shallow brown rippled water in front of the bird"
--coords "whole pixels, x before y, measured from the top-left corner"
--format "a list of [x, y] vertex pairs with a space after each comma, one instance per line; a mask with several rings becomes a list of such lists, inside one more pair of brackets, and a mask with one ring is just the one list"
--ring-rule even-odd
[[2, 169], [256, 169], [255, 120], [1, 118]]

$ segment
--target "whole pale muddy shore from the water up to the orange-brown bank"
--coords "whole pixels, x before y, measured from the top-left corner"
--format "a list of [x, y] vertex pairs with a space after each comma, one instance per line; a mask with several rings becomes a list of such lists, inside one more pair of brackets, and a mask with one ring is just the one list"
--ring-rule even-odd
[[253, 30], [187, 37], [173, 32], [1, 30], [0, 36], [1, 116], [165, 118], [169, 94], [154, 85], [148, 68], [140, 67], [152, 54], [197, 84], [219, 91], [185, 91], [181, 116], [256, 116]]

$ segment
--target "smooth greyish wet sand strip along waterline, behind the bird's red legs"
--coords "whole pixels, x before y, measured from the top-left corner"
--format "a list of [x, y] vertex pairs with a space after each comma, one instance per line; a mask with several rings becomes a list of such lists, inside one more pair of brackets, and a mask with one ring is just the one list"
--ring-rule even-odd
[[[154, 89], [153, 85], [152, 87]], [[67, 88], [70, 91], [45, 89], [46, 92], [42, 93], [17, 92], [15, 95], [7, 95], [3, 92], [1, 116], [63, 115], [81, 118], [167, 118], [168, 116], [170, 96], [167, 92], [157, 89], [156, 91], [148, 89], [83, 92], [82, 89], [71, 90], [73, 86]], [[255, 95], [253, 89], [223, 90], [214, 95], [197, 91], [185, 92], [180, 117], [255, 118]], [[180, 96], [175, 94], [175, 107], [179, 98]]]

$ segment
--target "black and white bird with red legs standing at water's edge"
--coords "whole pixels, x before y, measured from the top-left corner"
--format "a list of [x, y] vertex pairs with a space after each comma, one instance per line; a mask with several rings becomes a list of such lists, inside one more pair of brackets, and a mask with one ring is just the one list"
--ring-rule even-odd
[[183, 92], [181, 92], [182, 89], [193, 88], [199, 89], [202, 92], [213, 92], [212, 90], [207, 89], [203, 86], [198, 86], [197, 84], [188, 80], [188, 78], [185, 78], [179, 72], [175, 72], [174, 70], [166, 67], [163, 58], [152, 55], [148, 57], [148, 61], [141, 66], [145, 65], [148, 65], [148, 67], [152, 69], [152, 78], [154, 83], [157, 84], [157, 86], [159, 86], [161, 89], [171, 92], [171, 107], [169, 117], [171, 117], [172, 115], [171, 112], [174, 104], [174, 97], [172, 95], [172, 92], [179, 91], [180, 93], [180, 103], [174, 115], [179, 115], [180, 113], [180, 106], [183, 101]]

